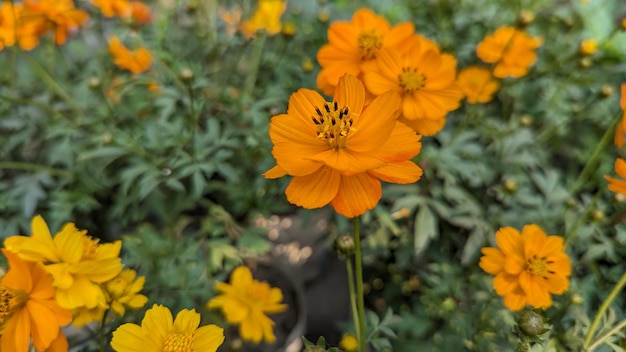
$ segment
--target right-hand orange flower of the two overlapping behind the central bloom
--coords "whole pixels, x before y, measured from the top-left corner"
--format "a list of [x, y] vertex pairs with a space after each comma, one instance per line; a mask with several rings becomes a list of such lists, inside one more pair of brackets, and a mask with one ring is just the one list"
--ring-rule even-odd
[[431, 136], [446, 122], [446, 114], [459, 107], [463, 92], [456, 84], [456, 59], [442, 54], [435, 42], [412, 37], [410, 50], [378, 53], [376, 67], [363, 73], [365, 87], [374, 95], [395, 91], [402, 98], [400, 121], [419, 134]]

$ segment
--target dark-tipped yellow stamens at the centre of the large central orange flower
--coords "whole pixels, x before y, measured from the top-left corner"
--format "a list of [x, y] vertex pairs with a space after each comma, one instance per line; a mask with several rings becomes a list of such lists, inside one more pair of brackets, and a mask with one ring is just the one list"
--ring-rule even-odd
[[352, 117], [347, 106], [339, 107], [336, 101], [324, 103], [324, 110], [315, 108], [317, 116], [311, 117], [317, 125], [317, 138], [324, 139], [332, 149], [345, 148], [348, 133], [352, 128]]

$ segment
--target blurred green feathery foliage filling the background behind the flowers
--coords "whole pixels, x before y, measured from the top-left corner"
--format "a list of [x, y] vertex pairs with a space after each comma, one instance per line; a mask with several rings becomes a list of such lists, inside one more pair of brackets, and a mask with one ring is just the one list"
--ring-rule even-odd
[[[285, 200], [287, 180], [261, 175], [274, 164], [267, 129], [292, 92], [315, 87], [329, 22], [358, 7], [393, 24], [411, 21], [462, 68], [479, 63], [486, 34], [532, 15], [526, 30], [543, 45], [530, 73], [503, 80], [489, 104], [452, 112], [441, 133], [422, 140], [422, 179], [385, 185], [363, 217], [366, 300], [378, 314], [370, 323], [383, 326], [380, 350], [512, 350], [516, 314], [477, 261], [499, 227], [537, 223], [567, 236], [574, 263], [570, 290], [548, 310], [544, 347], [580, 347], [626, 270], [626, 204], [603, 178], [624, 151], [612, 135], [600, 144], [621, 116], [626, 3], [289, 1], [282, 22], [295, 31], [264, 40], [229, 33], [218, 15], [239, 8], [249, 16], [253, 1], [148, 4], [154, 22], [133, 28], [81, 3], [90, 26], [67, 45], [0, 53], [2, 236], [29, 234], [30, 219], [42, 214], [52, 229], [74, 221], [92, 236], [123, 238], [125, 262], [147, 277], [151, 301], [203, 307], [214, 280], [270, 250], [259, 215], [301, 214]], [[146, 46], [152, 69], [117, 69], [111, 35]], [[598, 42], [597, 53], [579, 54], [585, 39]], [[331, 232], [348, 225], [339, 219]], [[625, 304], [617, 298], [605, 326], [623, 319]]]

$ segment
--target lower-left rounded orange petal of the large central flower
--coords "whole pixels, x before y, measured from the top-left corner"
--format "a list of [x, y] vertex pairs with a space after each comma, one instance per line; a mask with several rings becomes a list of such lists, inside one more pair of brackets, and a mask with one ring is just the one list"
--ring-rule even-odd
[[327, 166], [310, 175], [295, 176], [285, 190], [287, 200], [307, 209], [323, 207], [337, 195], [340, 178], [339, 172]]

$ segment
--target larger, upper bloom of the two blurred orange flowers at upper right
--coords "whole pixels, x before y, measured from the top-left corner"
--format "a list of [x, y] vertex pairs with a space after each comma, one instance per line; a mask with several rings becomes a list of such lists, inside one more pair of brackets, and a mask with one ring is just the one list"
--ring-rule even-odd
[[520, 29], [503, 26], [478, 44], [476, 55], [486, 63], [496, 64], [493, 75], [519, 78], [537, 60], [535, 49], [542, 39], [531, 37]]

